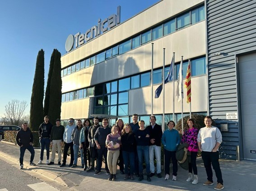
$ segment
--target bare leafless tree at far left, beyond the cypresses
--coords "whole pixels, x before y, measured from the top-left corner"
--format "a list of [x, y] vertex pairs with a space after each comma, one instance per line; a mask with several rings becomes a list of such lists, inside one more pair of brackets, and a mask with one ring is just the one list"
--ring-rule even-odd
[[23, 120], [25, 109], [28, 107], [26, 101], [12, 100], [5, 105], [5, 119], [6, 122], [9, 121], [13, 125], [20, 125]]

